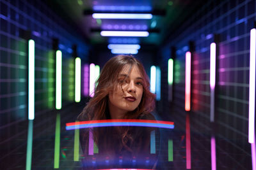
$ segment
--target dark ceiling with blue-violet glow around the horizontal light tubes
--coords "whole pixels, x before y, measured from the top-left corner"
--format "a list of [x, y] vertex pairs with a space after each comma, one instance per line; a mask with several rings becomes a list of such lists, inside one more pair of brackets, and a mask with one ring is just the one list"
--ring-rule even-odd
[[[92, 45], [108, 43], [163, 44], [188, 17], [207, 1], [202, 0], [47, 0], [45, 3], [72, 25]], [[95, 19], [92, 12], [152, 13], [149, 20]], [[84, 14], [86, 13], [86, 14]], [[157, 15], [155, 15], [157, 14]], [[160, 15], [159, 15], [160, 14]], [[148, 31], [145, 38], [113, 38], [100, 35], [102, 30]]]

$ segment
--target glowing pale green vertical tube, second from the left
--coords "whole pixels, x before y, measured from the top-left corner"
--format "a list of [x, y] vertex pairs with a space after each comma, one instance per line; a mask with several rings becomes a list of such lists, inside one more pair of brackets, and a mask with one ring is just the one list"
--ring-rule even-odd
[[56, 110], [61, 109], [62, 53], [56, 52]]

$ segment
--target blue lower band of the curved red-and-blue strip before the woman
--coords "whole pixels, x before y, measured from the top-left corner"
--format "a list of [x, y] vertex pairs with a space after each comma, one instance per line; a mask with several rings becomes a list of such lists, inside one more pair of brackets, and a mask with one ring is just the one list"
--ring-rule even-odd
[[96, 124], [82, 124], [82, 125], [70, 125], [66, 126], [67, 130], [90, 128], [90, 127], [109, 127], [109, 126], [141, 126], [141, 127], [159, 127], [166, 129], [173, 129], [174, 125], [170, 124], [156, 124], [156, 123], [144, 123], [144, 122], [106, 122]]

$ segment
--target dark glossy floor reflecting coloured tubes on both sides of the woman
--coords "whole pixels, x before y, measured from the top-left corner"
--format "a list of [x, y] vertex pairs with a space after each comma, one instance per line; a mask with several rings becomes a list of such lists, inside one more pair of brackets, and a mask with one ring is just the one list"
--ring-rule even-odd
[[[93, 159], [92, 162], [82, 161], [84, 158], [83, 152], [81, 150], [81, 145], [79, 143], [79, 150], [77, 153], [77, 145], [75, 131], [67, 131], [65, 129], [65, 124], [68, 122], [74, 122], [76, 116], [81, 110], [83, 110], [83, 104], [70, 105], [65, 107], [60, 111], [60, 145], [56, 144], [56, 136], [58, 132], [56, 131], [56, 113], [47, 113], [47, 117], [37, 117], [33, 122], [33, 146], [32, 146], [32, 162], [31, 169], [53, 169], [54, 166], [58, 169], [88, 169], [83, 168], [84, 164], [95, 164], [103, 165], [101, 167], [108, 167], [109, 169], [115, 167], [123, 167], [122, 162], [118, 160], [118, 165], [114, 165], [113, 162], [106, 159]], [[46, 113], [45, 113], [46, 114]], [[158, 120], [163, 120], [159, 114], [154, 113]], [[173, 118], [174, 119], [174, 118]], [[166, 118], [165, 120], [172, 121], [172, 117]], [[175, 121], [173, 121], [175, 123]], [[178, 123], [175, 123], [174, 129], [160, 129], [160, 136], [155, 136], [156, 148], [159, 148], [158, 162], [156, 169], [211, 169], [211, 135], [206, 133], [200, 133], [193, 131], [190, 127], [190, 141], [186, 138], [188, 136], [188, 131], [186, 127], [181, 127]], [[188, 123], [188, 119], [187, 119]], [[58, 123], [57, 123], [58, 124]], [[193, 125], [193, 122], [191, 122]], [[26, 125], [24, 125], [26, 126]], [[57, 125], [58, 126], [58, 125]], [[28, 125], [29, 128], [29, 125]], [[58, 128], [57, 128], [58, 129]], [[202, 129], [204, 131], [204, 129]], [[22, 139], [20, 139], [22, 141]], [[237, 146], [243, 146], [243, 141], [239, 139], [223, 139], [216, 136], [216, 164], [220, 169], [250, 169], [251, 157], [250, 155], [234, 150], [232, 144], [236, 143]], [[15, 144], [19, 141], [15, 141]], [[58, 142], [57, 142], [58, 143]], [[188, 150], [188, 143], [190, 143], [190, 150]], [[13, 142], [12, 142], [12, 145]], [[8, 146], [6, 146], [8, 147]], [[225, 147], [225, 150], [221, 149]], [[248, 148], [250, 149], [250, 148]], [[158, 150], [158, 149], [157, 149]], [[236, 151], [236, 152], [234, 152]], [[16, 153], [8, 153], [9, 155], [20, 155], [19, 159], [6, 159], [4, 168], [6, 169], [24, 169], [26, 167], [26, 157], [27, 156], [27, 146], [25, 143], [20, 144], [20, 148], [15, 150]], [[190, 159], [188, 159], [190, 152]], [[2, 154], [4, 153], [1, 152]], [[97, 157], [99, 153], [94, 153], [94, 157]], [[57, 155], [57, 157], [56, 157]], [[153, 154], [154, 155], [154, 154]], [[75, 161], [74, 159], [78, 160]], [[240, 160], [240, 161], [237, 161]], [[143, 158], [134, 158], [131, 161], [131, 169], [136, 169], [138, 167], [147, 168], [148, 160]], [[189, 164], [190, 162], [190, 164]], [[123, 162], [124, 163], [124, 162]], [[126, 164], [127, 165], [127, 164]], [[141, 166], [143, 165], [143, 166]], [[92, 166], [92, 169], [97, 166]], [[126, 168], [128, 168], [126, 166]]]

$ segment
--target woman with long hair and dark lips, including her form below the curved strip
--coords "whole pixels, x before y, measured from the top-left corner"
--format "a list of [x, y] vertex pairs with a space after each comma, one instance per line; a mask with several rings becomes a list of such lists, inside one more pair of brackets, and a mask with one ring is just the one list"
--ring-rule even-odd
[[[103, 67], [95, 96], [78, 120], [150, 119], [154, 94], [149, 91], [148, 76], [140, 61], [129, 55], [111, 58]], [[96, 127], [93, 139], [99, 153], [88, 155], [88, 138], [92, 129], [81, 129], [81, 146], [86, 168], [154, 167], [157, 151], [150, 153], [152, 127]], [[94, 162], [94, 164], [92, 163]]]

